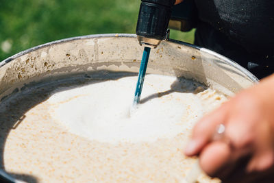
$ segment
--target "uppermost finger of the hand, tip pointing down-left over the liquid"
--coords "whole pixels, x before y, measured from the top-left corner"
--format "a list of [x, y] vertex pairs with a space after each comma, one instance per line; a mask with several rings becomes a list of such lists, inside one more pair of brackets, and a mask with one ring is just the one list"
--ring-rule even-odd
[[227, 112], [227, 107], [221, 106], [221, 108], [203, 117], [203, 119], [195, 125], [192, 140], [188, 143], [184, 151], [186, 156], [199, 154], [201, 149], [211, 141], [212, 136], [216, 133], [216, 126], [220, 123], [225, 123]]

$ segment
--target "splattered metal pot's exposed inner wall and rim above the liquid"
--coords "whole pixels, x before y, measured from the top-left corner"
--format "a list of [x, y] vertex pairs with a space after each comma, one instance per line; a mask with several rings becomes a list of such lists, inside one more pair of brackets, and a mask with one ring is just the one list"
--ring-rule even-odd
[[[20, 93], [26, 84], [41, 80], [96, 71], [138, 73], [142, 49], [135, 34], [80, 36], [27, 49], [0, 63], [0, 102]], [[162, 42], [151, 50], [147, 73], [186, 77], [225, 95], [234, 95], [258, 82], [232, 60], [177, 40]], [[3, 151], [1, 155], [3, 158]]]

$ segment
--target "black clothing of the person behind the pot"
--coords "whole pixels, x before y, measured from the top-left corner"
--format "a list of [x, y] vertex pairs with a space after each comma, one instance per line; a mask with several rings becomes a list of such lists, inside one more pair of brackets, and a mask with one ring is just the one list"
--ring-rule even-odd
[[195, 44], [238, 62], [258, 78], [274, 73], [273, 0], [195, 0]]

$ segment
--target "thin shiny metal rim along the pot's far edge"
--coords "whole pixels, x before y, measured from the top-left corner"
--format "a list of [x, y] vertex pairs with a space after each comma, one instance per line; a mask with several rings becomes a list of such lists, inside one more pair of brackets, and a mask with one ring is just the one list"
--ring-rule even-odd
[[[69, 41], [72, 41], [72, 40], [81, 40], [81, 39], [88, 39], [88, 38], [113, 38], [113, 37], [136, 38], [136, 34], [91, 34], [91, 35], [86, 35], [86, 36], [76, 36], [76, 37], [72, 37], [72, 38], [65, 38], [65, 39], [61, 39], [61, 40], [55, 40], [55, 41], [52, 41], [52, 42], [47, 42], [47, 43], [42, 44], [42, 45], [38, 45], [36, 47], [32, 47], [32, 48], [27, 49], [25, 51], [21, 51], [19, 53], [16, 53], [14, 56], [10, 56], [9, 58], [7, 58], [7, 59], [3, 60], [2, 62], [0, 62], [0, 68], [1, 68], [1, 66], [7, 64], [8, 62], [11, 62], [12, 60], [14, 60], [14, 59], [16, 59], [20, 56], [23, 56], [23, 55], [25, 55], [27, 53], [30, 53], [32, 51], [36, 51], [37, 49], [40, 49], [42, 47], [47, 47], [49, 45], [55, 45], [55, 44], [59, 44], [59, 43], [62, 43], [62, 42], [69, 42]], [[167, 41], [174, 42], [174, 43], [177, 43], [179, 45], [185, 45], [185, 46], [188, 46], [188, 47], [192, 47], [194, 49], [198, 49], [199, 51], [201, 51], [203, 53], [209, 53], [210, 55], [213, 55], [216, 58], [220, 58], [221, 60], [223, 60], [227, 64], [229, 64], [231, 66], [234, 66], [236, 69], [242, 71], [242, 73], [245, 73], [245, 75], [247, 75], [247, 77], [249, 77], [249, 79], [252, 80], [253, 82], [258, 82], [259, 81], [258, 78], [255, 77], [249, 71], [247, 71], [247, 69], [243, 68], [242, 66], [240, 66], [239, 64], [237, 64], [233, 60], [231, 60], [231, 59], [229, 59], [225, 56], [222, 56], [219, 53], [216, 53], [214, 51], [211, 51], [211, 50], [203, 48], [203, 47], [199, 47], [197, 45], [192, 45], [192, 44], [189, 44], [189, 43], [186, 43], [186, 42], [182, 42], [182, 41], [179, 41], [179, 40], [169, 39]]]

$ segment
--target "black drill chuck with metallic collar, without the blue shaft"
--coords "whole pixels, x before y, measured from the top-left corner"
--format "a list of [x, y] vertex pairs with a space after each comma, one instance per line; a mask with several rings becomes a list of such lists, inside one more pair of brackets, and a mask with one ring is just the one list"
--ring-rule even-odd
[[175, 0], [142, 0], [136, 27], [140, 45], [155, 48], [166, 39], [174, 3]]

